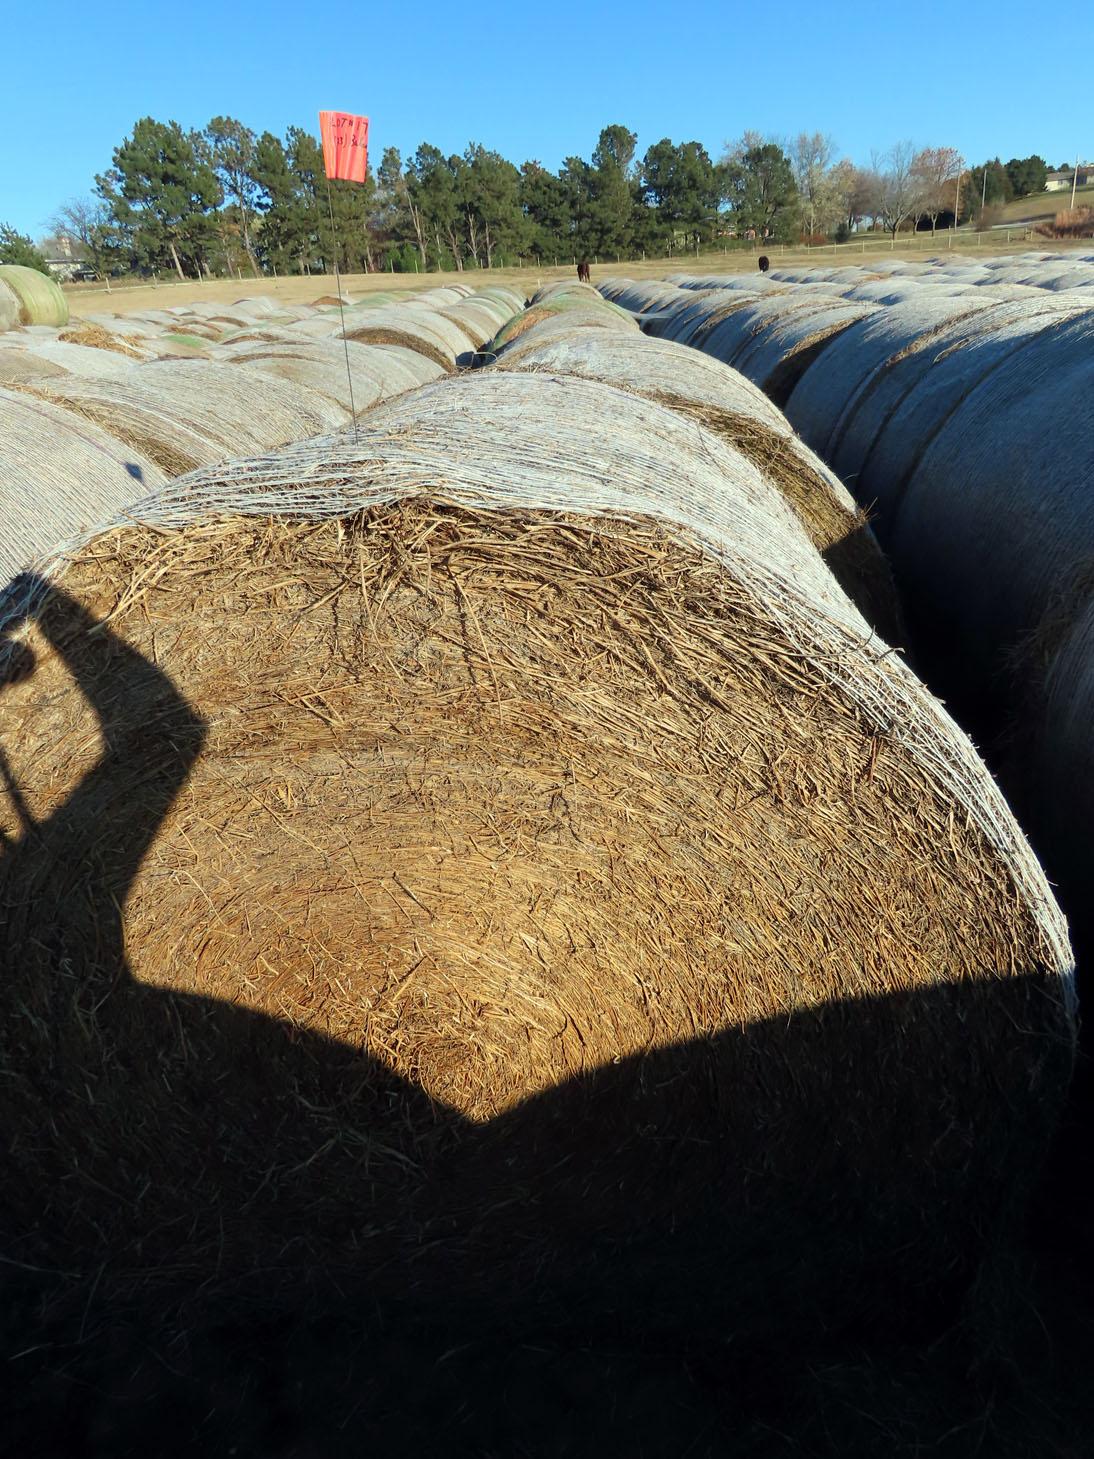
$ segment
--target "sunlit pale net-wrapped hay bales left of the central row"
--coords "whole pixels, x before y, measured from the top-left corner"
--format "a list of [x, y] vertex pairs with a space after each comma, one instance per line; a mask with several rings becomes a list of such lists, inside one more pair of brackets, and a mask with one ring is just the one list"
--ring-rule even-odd
[[464, 286], [341, 308], [260, 298], [0, 337], [0, 588], [175, 476], [455, 371], [521, 303]]

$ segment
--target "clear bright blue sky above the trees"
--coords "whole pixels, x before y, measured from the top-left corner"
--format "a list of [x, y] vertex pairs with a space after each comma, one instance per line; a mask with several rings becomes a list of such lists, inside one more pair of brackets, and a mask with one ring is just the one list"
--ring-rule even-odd
[[[302, 20], [300, 18], [308, 19]], [[48, 28], [48, 38], [44, 29]], [[745, 128], [827, 131], [868, 160], [909, 139], [970, 160], [1094, 160], [1094, 4], [799, 0], [725, 4], [10, 7], [0, 82], [0, 222], [41, 235], [88, 194], [143, 115], [318, 131], [321, 107], [372, 118], [373, 158], [468, 140], [515, 162], [588, 156], [623, 123], [716, 155]], [[1085, 79], [1084, 79], [1085, 77]]]

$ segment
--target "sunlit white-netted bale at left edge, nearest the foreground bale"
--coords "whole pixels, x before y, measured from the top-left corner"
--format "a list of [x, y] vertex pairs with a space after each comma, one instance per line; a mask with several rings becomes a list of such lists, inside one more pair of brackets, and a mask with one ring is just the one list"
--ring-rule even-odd
[[0, 600], [22, 569], [86, 538], [163, 480], [147, 457], [90, 422], [0, 388]]

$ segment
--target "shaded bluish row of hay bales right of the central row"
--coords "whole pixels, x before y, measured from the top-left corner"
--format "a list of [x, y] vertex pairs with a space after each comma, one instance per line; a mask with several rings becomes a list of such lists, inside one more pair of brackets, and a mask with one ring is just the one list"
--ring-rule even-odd
[[[737, 280], [672, 298], [662, 285], [639, 317], [783, 400], [789, 422], [869, 508], [919, 662], [992, 743], [1085, 950], [1094, 295], [1081, 279], [1060, 282], [1084, 267], [1090, 260], [1018, 266], [1041, 279], [1034, 298], [992, 287], [1009, 260], [961, 292], [938, 287], [942, 270], [920, 270], [893, 302], [853, 303], [859, 286], [846, 270], [760, 292]], [[826, 299], [826, 289], [837, 293]], [[642, 290], [610, 292], [640, 308]]]

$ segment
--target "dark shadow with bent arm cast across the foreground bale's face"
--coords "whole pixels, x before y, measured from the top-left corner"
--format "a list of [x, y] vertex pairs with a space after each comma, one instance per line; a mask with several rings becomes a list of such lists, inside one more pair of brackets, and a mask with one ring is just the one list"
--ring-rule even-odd
[[64, 589], [19, 591], [101, 753], [45, 814], [3, 772], [4, 1271], [85, 1320], [171, 1294], [651, 1341], [903, 1325], [967, 1281], [1066, 1078], [1030, 1033], [1044, 979], [729, 1026], [474, 1123], [366, 1049], [133, 978], [127, 894], [206, 727]]

